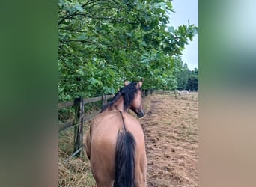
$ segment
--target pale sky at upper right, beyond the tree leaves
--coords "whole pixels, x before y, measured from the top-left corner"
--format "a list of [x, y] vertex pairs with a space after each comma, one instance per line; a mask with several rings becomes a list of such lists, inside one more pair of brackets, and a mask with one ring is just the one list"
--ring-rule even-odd
[[[170, 13], [169, 25], [177, 28], [180, 25], [198, 26], [198, 0], [173, 0], [171, 1], [175, 13]], [[198, 68], [198, 34], [192, 42], [185, 46], [181, 56], [183, 64], [188, 64], [189, 70]]]

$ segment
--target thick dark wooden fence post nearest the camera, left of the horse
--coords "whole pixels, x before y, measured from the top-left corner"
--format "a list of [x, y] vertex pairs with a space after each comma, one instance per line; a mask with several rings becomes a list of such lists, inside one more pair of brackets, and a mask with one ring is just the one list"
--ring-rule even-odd
[[[83, 139], [83, 122], [84, 122], [84, 99], [80, 96], [78, 99], [75, 99], [75, 119], [74, 124], [79, 123], [78, 126], [74, 126], [74, 150], [73, 153], [76, 153], [77, 150], [82, 147]], [[80, 150], [75, 156], [80, 156], [82, 151]]]

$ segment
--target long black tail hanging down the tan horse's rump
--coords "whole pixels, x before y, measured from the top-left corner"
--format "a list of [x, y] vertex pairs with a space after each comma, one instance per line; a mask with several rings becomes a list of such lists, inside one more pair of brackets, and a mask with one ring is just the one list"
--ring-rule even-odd
[[114, 187], [135, 186], [135, 139], [126, 129], [118, 132]]

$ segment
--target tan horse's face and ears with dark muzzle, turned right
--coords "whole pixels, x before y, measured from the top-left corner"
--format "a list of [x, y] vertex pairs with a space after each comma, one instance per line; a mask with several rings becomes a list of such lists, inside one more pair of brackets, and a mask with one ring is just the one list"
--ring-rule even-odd
[[[128, 85], [128, 82], [124, 82], [125, 85]], [[132, 101], [132, 104], [129, 106], [129, 108], [137, 114], [138, 117], [143, 117], [144, 116], [144, 106], [142, 103], [142, 96], [143, 92], [141, 90], [142, 86], [142, 80], [139, 81], [136, 85], [136, 93], [134, 96], [134, 99]]]

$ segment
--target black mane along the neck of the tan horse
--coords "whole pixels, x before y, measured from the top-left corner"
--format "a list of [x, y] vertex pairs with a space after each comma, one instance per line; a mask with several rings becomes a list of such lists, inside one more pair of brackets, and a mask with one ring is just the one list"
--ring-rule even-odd
[[[118, 99], [121, 96], [124, 96], [124, 109], [126, 110], [129, 107], [129, 105], [132, 104], [132, 100], [134, 99], [135, 93], [137, 93], [136, 85], [137, 82], [131, 82], [124, 88], [121, 88], [121, 90], [118, 91], [118, 93], [116, 93], [115, 96], [112, 98], [112, 100], [108, 102], [106, 105], [104, 105], [103, 109], [100, 112], [103, 112], [106, 110], [106, 108], [112, 106], [115, 102], [118, 101]], [[141, 88], [139, 89], [141, 90]]]

